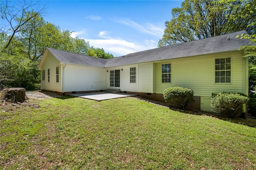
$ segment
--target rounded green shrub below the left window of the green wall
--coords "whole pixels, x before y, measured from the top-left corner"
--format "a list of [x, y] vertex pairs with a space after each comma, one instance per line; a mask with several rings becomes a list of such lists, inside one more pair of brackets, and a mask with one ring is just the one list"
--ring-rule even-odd
[[188, 103], [193, 100], [194, 92], [189, 88], [170, 87], [164, 90], [166, 102], [177, 105], [180, 109], [186, 109]]

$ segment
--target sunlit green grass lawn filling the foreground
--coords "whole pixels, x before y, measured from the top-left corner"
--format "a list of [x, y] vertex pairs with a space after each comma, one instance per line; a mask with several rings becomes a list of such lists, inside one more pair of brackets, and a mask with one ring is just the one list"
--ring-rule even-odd
[[256, 128], [136, 98], [0, 107], [0, 169], [255, 170]]

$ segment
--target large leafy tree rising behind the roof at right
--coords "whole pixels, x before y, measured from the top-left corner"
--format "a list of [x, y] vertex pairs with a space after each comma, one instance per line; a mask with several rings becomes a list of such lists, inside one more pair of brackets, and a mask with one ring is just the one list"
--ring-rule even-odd
[[184, 0], [180, 8], [172, 9], [172, 20], [159, 47], [204, 39], [246, 29], [256, 19], [255, 0]]

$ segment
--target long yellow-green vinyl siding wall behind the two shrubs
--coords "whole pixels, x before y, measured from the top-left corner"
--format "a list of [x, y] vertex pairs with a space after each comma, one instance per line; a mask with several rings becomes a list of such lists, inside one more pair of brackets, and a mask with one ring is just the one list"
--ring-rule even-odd
[[[231, 57], [231, 82], [215, 83], [215, 59]], [[212, 92], [244, 92], [242, 86], [242, 53], [188, 57], [182, 60], [166, 60], [156, 64], [156, 93], [163, 93], [170, 86], [191, 88], [194, 96], [211, 97]], [[171, 83], [162, 83], [162, 64], [171, 63]]]

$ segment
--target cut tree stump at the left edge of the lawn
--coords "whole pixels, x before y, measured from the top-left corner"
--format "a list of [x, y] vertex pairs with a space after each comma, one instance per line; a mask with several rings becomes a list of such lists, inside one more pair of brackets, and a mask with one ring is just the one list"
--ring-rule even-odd
[[1, 100], [23, 103], [27, 99], [25, 88], [4, 88], [2, 90]]

